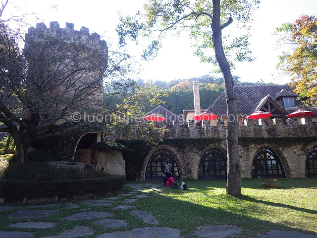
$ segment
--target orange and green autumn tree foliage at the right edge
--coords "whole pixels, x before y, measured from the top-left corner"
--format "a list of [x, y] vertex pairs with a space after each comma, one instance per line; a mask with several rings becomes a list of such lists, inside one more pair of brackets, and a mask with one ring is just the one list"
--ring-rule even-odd
[[293, 24], [276, 28], [282, 43], [290, 43], [290, 52], [280, 56], [278, 67], [292, 76], [294, 92], [317, 106], [317, 18], [302, 15]]

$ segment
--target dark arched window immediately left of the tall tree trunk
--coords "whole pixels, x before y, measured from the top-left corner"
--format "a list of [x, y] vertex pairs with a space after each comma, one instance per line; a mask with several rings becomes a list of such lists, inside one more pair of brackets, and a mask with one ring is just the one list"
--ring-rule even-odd
[[198, 179], [226, 179], [227, 157], [225, 154], [212, 148], [208, 150], [199, 165]]

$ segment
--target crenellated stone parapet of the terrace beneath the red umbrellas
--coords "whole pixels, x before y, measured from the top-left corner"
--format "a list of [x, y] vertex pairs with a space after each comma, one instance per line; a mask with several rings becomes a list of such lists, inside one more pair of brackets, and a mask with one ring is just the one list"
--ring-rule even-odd
[[[178, 121], [174, 125], [167, 126], [168, 131], [164, 134], [164, 139], [177, 138], [220, 138], [226, 139], [227, 121], [217, 120], [205, 121], [197, 124], [196, 120], [188, 120], [184, 125]], [[245, 124], [241, 123], [238, 127], [239, 137], [270, 138], [270, 137], [311, 137], [317, 136], [316, 118], [305, 118], [305, 124], [301, 124], [301, 119], [292, 118], [286, 123], [282, 119], [262, 119], [261, 125], [258, 120], [248, 120]], [[163, 127], [164, 121], [160, 121], [158, 126]], [[146, 126], [146, 124], [145, 124]], [[117, 134], [117, 139], [136, 139], [126, 138], [124, 135]]]

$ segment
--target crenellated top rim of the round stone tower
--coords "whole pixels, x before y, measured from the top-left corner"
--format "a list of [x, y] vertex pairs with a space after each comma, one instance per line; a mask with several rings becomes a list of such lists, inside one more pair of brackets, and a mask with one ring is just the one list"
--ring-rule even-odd
[[48, 39], [57, 39], [59, 41], [83, 46], [90, 50], [97, 50], [105, 60], [107, 66], [108, 48], [105, 40], [101, 40], [97, 33], [89, 33], [89, 28], [82, 26], [79, 31], [74, 30], [73, 23], [66, 23], [65, 28], [60, 28], [57, 21], [51, 21], [50, 27], [43, 22], [37, 23], [36, 27], [30, 27], [25, 35], [25, 47], [32, 42], [40, 43]]

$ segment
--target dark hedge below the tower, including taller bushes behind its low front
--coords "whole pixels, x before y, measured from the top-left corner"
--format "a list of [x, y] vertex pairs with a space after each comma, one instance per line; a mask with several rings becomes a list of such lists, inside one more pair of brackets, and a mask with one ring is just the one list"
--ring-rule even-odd
[[8, 166], [0, 177], [0, 197], [7, 201], [43, 197], [113, 192], [123, 188], [125, 176], [100, 171], [61, 169], [46, 163]]

